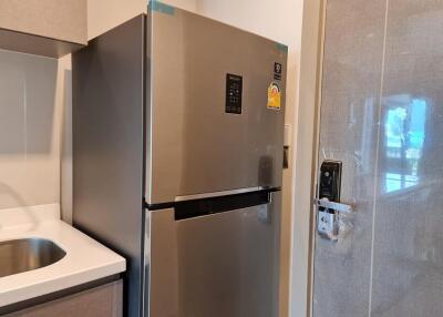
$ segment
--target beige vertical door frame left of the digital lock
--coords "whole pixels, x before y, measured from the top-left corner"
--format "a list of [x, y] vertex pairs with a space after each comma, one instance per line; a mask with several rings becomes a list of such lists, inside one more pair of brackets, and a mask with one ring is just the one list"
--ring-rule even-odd
[[319, 86], [321, 80], [322, 22], [326, 0], [305, 1], [300, 52], [299, 109], [291, 254], [290, 316], [311, 316], [312, 197], [317, 168]]

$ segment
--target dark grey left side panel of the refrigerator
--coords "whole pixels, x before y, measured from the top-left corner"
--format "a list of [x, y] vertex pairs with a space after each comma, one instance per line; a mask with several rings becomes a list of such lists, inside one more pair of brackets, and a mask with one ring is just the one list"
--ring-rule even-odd
[[73, 54], [73, 223], [127, 259], [125, 316], [141, 316], [144, 32], [138, 16]]

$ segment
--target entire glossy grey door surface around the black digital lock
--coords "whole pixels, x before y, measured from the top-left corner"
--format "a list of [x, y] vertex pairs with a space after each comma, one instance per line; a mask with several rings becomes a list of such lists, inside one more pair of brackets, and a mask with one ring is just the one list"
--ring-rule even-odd
[[313, 316], [443, 316], [443, 1], [328, 0], [319, 162], [356, 206], [316, 234]]

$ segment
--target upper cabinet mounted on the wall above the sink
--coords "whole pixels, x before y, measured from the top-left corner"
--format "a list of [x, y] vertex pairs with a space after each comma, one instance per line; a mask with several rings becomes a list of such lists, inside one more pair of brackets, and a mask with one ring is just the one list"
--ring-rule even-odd
[[86, 0], [0, 0], [0, 49], [59, 58], [87, 42]]

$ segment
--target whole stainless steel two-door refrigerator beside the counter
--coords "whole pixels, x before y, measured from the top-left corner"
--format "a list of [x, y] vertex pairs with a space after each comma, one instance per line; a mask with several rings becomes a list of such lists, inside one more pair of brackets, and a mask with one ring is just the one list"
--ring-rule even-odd
[[73, 222], [125, 316], [278, 316], [287, 47], [152, 2], [72, 67]]

